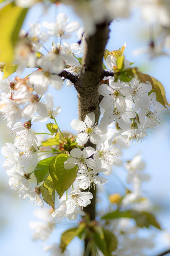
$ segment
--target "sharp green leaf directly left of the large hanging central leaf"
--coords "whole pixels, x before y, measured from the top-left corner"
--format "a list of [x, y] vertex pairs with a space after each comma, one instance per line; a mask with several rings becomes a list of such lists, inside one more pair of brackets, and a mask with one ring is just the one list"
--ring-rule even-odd
[[49, 164], [53, 158], [54, 156], [43, 159], [36, 165], [34, 174], [37, 179], [37, 184], [44, 181], [49, 176]]

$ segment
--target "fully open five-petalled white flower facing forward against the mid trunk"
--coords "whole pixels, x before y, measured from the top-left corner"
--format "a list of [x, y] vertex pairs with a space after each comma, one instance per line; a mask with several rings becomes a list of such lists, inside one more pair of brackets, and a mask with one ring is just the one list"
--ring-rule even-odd
[[94, 112], [90, 112], [88, 115], [86, 115], [85, 121], [82, 122], [80, 120], [72, 120], [71, 127], [72, 129], [81, 132], [78, 134], [76, 142], [82, 146], [83, 144], [86, 144], [88, 139], [93, 144], [98, 144], [101, 141], [99, 134], [106, 134], [107, 127], [102, 126], [101, 124], [96, 125], [95, 122], [95, 115]]

